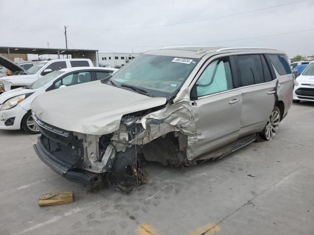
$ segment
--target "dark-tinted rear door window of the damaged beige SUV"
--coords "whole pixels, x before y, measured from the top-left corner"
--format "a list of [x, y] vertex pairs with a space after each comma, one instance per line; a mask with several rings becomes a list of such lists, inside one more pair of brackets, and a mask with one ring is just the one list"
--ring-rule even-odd
[[260, 55], [238, 55], [237, 61], [243, 87], [264, 82]]

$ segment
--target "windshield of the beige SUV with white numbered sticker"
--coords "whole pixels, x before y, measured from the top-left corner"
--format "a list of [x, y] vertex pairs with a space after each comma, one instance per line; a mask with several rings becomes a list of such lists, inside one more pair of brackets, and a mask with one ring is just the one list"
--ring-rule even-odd
[[200, 59], [140, 55], [116, 71], [108, 84], [155, 97], [171, 97]]

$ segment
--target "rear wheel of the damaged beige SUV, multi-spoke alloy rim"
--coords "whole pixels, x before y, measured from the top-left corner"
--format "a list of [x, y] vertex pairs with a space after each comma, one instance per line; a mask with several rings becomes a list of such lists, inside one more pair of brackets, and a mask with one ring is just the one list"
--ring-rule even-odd
[[280, 117], [280, 110], [277, 106], [275, 106], [261, 132], [262, 137], [266, 141], [270, 141], [275, 137], [280, 123]]

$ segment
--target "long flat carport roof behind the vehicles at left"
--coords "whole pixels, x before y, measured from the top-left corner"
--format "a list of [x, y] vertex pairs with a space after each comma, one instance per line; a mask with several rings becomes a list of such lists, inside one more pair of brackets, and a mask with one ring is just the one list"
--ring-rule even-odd
[[[0, 47], [0, 53], [8, 53], [8, 49], [10, 49], [10, 53], [19, 53], [19, 54], [55, 54], [58, 52], [60, 54], [77, 54], [77, 53], [88, 53], [88, 52], [96, 52], [98, 50], [92, 49], [66, 49], [66, 48], [42, 48], [42, 47]], [[62, 52], [62, 53], [61, 53]]]

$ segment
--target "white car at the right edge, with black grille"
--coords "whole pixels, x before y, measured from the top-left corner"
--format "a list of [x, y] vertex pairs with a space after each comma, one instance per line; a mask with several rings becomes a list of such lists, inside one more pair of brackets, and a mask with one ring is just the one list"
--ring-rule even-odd
[[314, 61], [295, 79], [293, 102], [314, 101]]

